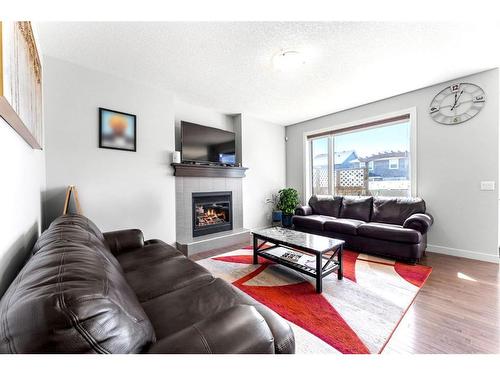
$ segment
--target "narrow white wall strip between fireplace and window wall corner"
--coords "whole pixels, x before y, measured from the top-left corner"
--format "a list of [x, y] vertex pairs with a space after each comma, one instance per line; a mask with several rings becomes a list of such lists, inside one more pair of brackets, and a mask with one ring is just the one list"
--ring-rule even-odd
[[285, 128], [242, 114], [243, 226], [253, 229], [271, 224], [272, 207], [266, 198], [285, 187]]

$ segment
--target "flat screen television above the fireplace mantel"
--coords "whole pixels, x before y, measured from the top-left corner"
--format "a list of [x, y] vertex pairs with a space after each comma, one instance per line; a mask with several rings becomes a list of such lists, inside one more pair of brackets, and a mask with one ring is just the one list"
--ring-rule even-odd
[[235, 134], [181, 121], [182, 162], [236, 164]]

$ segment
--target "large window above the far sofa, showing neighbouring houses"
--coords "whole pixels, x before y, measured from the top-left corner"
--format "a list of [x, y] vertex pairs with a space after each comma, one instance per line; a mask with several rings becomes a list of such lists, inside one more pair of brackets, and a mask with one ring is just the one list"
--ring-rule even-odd
[[309, 135], [312, 194], [412, 196], [410, 115]]

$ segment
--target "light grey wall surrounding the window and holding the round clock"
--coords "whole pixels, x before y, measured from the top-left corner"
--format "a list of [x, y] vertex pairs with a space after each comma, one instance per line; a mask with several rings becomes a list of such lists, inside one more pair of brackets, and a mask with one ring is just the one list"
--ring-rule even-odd
[[287, 186], [304, 191], [304, 132], [416, 107], [417, 194], [435, 218], [429, 250], [498, 261], [498, 192], [479, 189], [482, 180], [498, 189], [498, 69], [453, 82], [477, 84], [487, 95], [483, 110], [461, 125], [440, 125], [428, 115], [432, 98], [450, 81], [288, 126]]

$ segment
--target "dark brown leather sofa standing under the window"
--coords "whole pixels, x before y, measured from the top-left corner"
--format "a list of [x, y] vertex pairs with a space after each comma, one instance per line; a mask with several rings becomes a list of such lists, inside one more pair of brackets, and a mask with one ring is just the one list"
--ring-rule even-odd
[[313, 195], [292, 222], [296, 230], [342, 239], [348, 249], [415, 263], [433, 218], [421, 198]]

